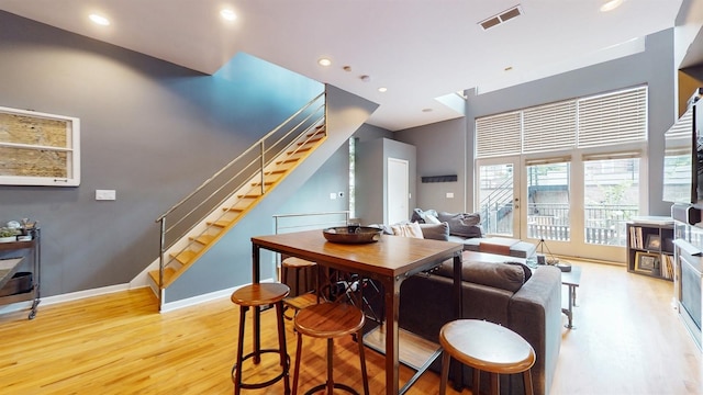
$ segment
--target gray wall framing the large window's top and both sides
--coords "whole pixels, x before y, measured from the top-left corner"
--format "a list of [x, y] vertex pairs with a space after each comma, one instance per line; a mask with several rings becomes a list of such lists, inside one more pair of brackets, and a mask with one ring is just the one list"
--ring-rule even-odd
[[[458, 124], [459, 121], [448, 121], [395, 132], [394, 136], [395, 139], [417, 146], [419, 174], [432, 174], [445, 169], [454, 170], [459, 166], [459, 162], [464, 161], [466, 163], [464, 204], [468, 211], [472, 211], [475, 193], [473, 136], [477, 117], [646, 83], [649, 87], [649, 153], [647, 153], [649, 171], [647, 181], [649, 190], [652, 192], [649, 196], [648, 207], [643, 208], [650, 215], [669, 215], [670, 204], [661, 201], [661, 184], [663, 133], [676, 120], [674, 75], [673, 31], [666, 30], [646, 38], [644, 53], [493, 92], [476, 94], [475, 90], [467, 91], [466, 134], [458, 132], [461, 127]], [[435, 138], [436, 134], [439, 134], [440, 138]], [[454, 155], [446, 155], [447, 149], [461, 155], [457, 149], [459, 145], [466, 147], [464, 160]], [[427, 151], [432, 154], [427, 154]], [[423, 208], [437, 210], [440, 210], [439, 206], [445, 203], [449, 206], [449, 202], [443, 202], [440, 199], [443, 188], [446, 187], [443, 184], [422, 185], [417, 204]], [[453, 203], [457, 204], [456, 210], [460, 208], [458, 201]], [[433, 207], [434, 205], [437, 207]]]

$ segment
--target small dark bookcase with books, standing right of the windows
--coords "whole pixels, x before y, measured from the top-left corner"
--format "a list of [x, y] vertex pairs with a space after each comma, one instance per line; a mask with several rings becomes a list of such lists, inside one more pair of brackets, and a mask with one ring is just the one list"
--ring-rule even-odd
[[673, 281], [673, 222], [627, 223], [627, 271]]

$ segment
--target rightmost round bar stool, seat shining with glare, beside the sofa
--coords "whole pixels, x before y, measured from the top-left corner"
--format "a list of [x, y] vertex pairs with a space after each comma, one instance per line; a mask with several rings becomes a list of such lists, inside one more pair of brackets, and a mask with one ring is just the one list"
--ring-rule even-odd
[[533, 395], [531, 368], [535, 364], [535, 350], [514, 331], [484, 320], [458, 319], [442, 327], [439, 343], [444, 349], [440, 395], [447, 390], [450, 358], [473, 368], [472, 394], [479, 394], [480, 371], [484, 371], [491, 374], [491, 394], [500, 394], [499, 374], [523, 373], [525, 394]]

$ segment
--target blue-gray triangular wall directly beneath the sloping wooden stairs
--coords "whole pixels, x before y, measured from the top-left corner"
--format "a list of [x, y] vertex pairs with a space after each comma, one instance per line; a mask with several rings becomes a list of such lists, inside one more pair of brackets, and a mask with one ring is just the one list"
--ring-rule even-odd
[[[378, 104], [360, 99], [341, 89], [327, 86], [327, 139], [315, 149], [295, 171], [281, 181], [276, 189], [254, 207], [232, 230], [203, 255], [200, 261], [166, 290], [166, 303], [199, 296], [210, 292], [226, 290], [252, 281], [253, 236], [274, 233], [274, 214], [280, 214], [281, 207], [290, 207], [297, 213], [298, 204], [305, 202], [314, 212], [334, 208], [327, 201], [319, 200], [321, 190], [338, 188], [342, 181], [328, 177], [341, 173], [344, 158], [339, 150]], [[331, 160], [331, 161], [330, 161]], [[348, 160], [348, 159], [347, 159]], [[336, 167], [334, 170], [327, 165]], [[348, 167], [347, 167], [348, 168]], [[347, 177], [348, 179], [348, 177]], [[301, 185], [303, 185], [301, 190]], [[328, 194], [327, 194], [328, 199]], [[319, 202], [315, 205], [314, 202]], [[261, 251], [261, 279], [275, 278], [275, 257]]]

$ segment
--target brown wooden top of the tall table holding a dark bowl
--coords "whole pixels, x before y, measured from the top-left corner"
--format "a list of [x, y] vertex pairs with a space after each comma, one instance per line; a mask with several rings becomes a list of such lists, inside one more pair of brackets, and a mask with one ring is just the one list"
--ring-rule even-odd
[[304, 257], [325, 266], [358, 273], [395, 276], [413, 273], [427, 263], [442, 263], [464, 249], [459, 242], [382, 235], [369, 244], [338, 244], [327, 241], [322, 230], [256, 236], [252, 242], [259, 247]]

